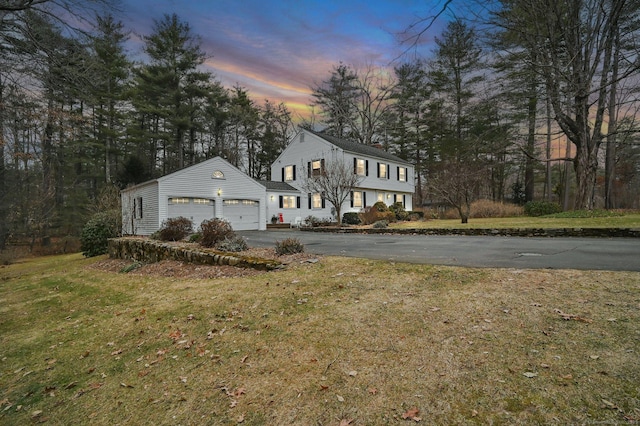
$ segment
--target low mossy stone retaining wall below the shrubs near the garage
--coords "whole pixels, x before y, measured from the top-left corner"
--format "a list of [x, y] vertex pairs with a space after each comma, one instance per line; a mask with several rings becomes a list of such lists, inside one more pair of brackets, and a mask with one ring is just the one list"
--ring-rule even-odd
[[204, 248], [193, 249], [141, 238], [114, 238], [109, 240], [109, 257], [130, 259], [143, 263], [178, 260], [200, 265], [230, 265], [271, 271], [282, 268], [275, 260], [243, 257]]

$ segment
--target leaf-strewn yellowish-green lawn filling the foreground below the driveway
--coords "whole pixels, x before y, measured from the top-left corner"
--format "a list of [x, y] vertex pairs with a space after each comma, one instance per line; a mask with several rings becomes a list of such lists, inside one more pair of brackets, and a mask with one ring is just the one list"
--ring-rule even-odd
[[327, 257], [184, 280], [94, 262], [0, 268], [1, 424], [640, 419], [638, 273]]

